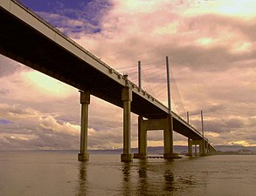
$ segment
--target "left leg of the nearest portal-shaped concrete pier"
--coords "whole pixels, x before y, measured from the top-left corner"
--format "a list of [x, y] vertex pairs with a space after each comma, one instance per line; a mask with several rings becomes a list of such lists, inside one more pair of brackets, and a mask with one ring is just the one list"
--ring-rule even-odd
[[138, 153], [134, 154], [136, 159], [147, 159], [147, 121], [138, 117]]

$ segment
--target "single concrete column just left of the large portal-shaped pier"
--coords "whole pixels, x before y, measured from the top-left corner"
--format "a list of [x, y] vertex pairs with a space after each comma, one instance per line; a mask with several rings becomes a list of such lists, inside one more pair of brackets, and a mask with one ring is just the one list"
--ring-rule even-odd
[[121, 161], [132, 161], [133, 154], [131, 149], [131, 102], [132, 90], [124, 87], [121, 91], [121, 100], [123, 102], [123, 153], [121, 154]]

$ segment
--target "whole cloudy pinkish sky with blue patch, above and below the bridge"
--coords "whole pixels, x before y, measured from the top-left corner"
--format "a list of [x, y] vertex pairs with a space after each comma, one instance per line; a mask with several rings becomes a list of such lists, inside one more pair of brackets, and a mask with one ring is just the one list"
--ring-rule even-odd
[[[167, 105], [214, 145], [256, 146], [256, 1], [21, 0], [40, 17]], [[132, 115], [132, 147], [137, 116]], [[175, 145], [187, 139], [174, 133]], [[163, 132], [148, 132], [163, 145]], [[122, 109], [89, 105], [88, 148], [122, 147]], [[78, 89], [0, 55], [0, 150], [80, 149]]]

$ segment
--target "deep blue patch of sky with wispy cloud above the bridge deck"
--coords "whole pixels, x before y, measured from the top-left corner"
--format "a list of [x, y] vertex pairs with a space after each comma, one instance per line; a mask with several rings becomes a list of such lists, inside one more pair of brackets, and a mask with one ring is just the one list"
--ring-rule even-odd
[[112, 8], [110, 1], [41, 1], [23, 0], [31, 10], [57, 27], [66, 35], [79, 38], [80, 34], [93, 34], [101, 30], [100, 20]]

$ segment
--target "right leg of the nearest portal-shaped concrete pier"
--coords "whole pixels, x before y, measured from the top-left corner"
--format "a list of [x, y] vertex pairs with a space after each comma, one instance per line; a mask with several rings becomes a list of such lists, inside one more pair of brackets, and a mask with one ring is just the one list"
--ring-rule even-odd
[[167, 118], [167, 123], [164, 125], [163, 129], [163, 159], [176, 159], [178, 154], [173, 153], [173, 120], [172, 116], [169, 115]]

